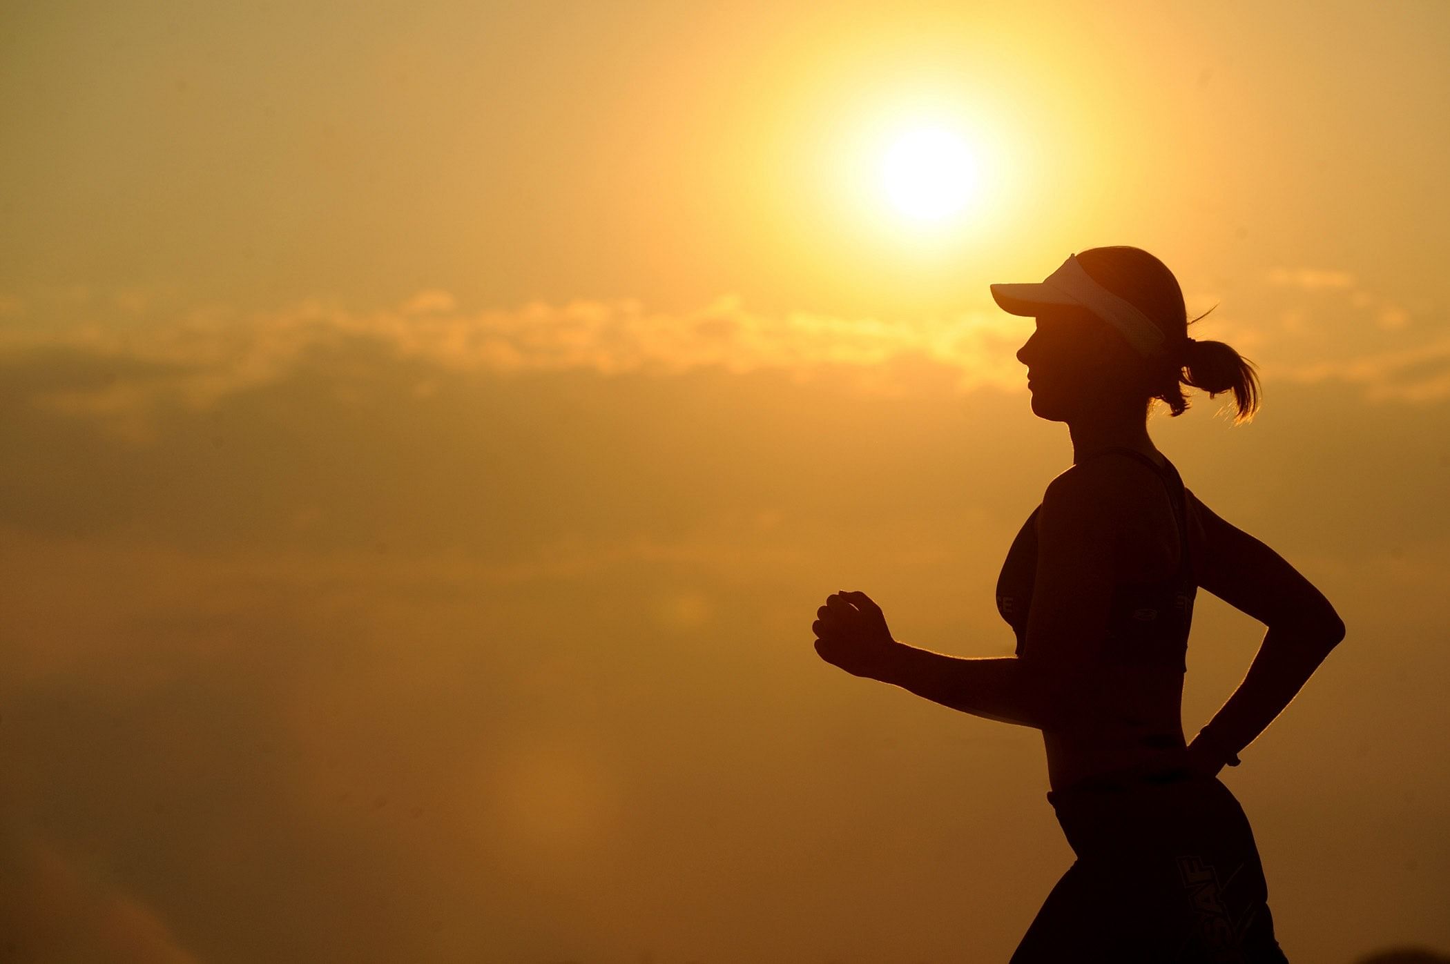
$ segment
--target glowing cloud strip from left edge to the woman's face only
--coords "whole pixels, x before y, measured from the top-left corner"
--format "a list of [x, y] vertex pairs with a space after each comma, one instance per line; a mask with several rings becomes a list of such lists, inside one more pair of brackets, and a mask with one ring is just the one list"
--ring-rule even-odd
[[[129, 303], [135, 303], [135, 296]], [[402, 358], [452, 371], [587, 370], [606, 375], [856, 368], [861, 387], [900, 390], [886, 362], [918, 358], [956, 373], [957, 387], [1019, 387], [1015, 351], [1022, 319], [970, 310], [902, 322], [790, 312], [763, 315], [738, 297], [696, 310], [650, 312], [635, 300], [535, 302], [513, 310], [464, 312], [447, 291], [419, 291], [396, 309], [355, 312], [304, 300], [270, 312], [204, 307], [146, 325], [84, 316], [72, 322], [0, 329], [0, 354], [68, 349], [152, 367], [145, 380], [52, 384], [42, 403], [71, 415], [120, 417], [161, 399], [206, 409], [226, 394], [276, 381], [316, 349], [371, 339]], [[139, 426], [132, 426], [144, 435]]]

